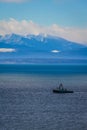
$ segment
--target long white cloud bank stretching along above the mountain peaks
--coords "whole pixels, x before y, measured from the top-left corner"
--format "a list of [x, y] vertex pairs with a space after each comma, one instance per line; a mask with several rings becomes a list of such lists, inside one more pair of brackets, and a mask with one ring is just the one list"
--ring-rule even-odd
[[20, 35], [43, 34], [62, 37], [70, 41], [87, 44], [87, 28], [60, 27], [57, 24], [41, 26], [33, 21], [17, 21], [13, 18], [0, 21], [0, 35], [16, 33]]

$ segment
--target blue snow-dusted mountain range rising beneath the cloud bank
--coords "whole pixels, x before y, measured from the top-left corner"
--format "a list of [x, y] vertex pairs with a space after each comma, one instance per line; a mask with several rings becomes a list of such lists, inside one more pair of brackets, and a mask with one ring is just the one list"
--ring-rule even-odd
[[7, 34], [0, 36], [0, 59], [18, 58], [87, 58], [85, 44], [61, 37]]

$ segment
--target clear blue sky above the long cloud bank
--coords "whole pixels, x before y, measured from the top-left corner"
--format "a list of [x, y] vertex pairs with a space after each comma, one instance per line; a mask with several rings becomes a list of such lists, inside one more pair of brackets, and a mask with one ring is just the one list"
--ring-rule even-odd
[[[4, 1], [4, 0], [3, 0]], [[86, 0], [28, 0], [1, 2], [0, 19], [32, 20], [41, 25], [87, 27]]]

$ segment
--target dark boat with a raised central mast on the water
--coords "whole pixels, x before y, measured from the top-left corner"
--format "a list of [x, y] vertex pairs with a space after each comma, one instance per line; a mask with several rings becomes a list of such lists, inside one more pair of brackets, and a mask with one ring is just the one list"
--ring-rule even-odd
[[73, 93], [72, 90], [67, 90], [63, 87], [63, 84], [61, 83], [58, 88], [53, 89], [53, 93]]

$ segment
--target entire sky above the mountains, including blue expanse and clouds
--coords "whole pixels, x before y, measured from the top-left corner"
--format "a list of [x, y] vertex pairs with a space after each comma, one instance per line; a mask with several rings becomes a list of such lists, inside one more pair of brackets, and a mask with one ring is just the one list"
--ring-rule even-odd
[[0, 0], [0, 35], [44, 34], [87, 44], [86, 0]]

